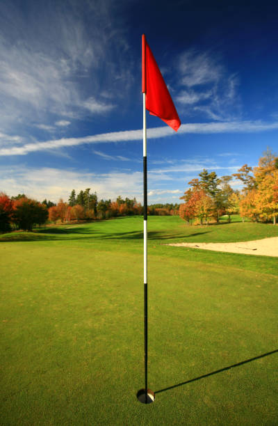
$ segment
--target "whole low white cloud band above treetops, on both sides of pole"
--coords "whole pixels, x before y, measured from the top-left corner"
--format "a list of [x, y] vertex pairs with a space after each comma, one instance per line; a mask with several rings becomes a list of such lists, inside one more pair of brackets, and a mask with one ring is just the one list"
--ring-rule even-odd
[[[197, 164], [197, 160], [189, 159], [188, 164]], [[208, 161], [209, 162], [209, 161]], [[149, 196], [152, 202], [162, 202], [169, 200], [172, 194], [179, 200], [179, 194], [183, 194], [186, 182], [189, 182], [195, 173], [203, 168], [210, 169], [204, 161], [199, 166], [188, 165], [176, 166], [165, 169], [149, 171], [148, 187]], [[213, 166], [215, 171], [232, 173], [237, 171], [236, 167]], [[179, 173], [179, 175], [175, 175]], [[190, 174], [191, 173], [191, 174]], [[75, 171], [58, 168], [27, 168], [25, 166], [0, 168], [0, 191], [4, 191], [9, 196], [26, 194], [31, 198], [43, 200], [47, 198], [54, 202], [59, 198], [67, 200], [70, 191], [75, 189], [91, 188], [92, 192], [97, 192], [99, 198], [115, 199], [118, 195], [133, 198], [142, 202], [142, 171], [112, 171], [111, 173], [90, 173], [90, 171]], [[231, 182], [235, 188], [240, 187], [241, 182]], [[178, 189], [177, 186], [180, 188]]]

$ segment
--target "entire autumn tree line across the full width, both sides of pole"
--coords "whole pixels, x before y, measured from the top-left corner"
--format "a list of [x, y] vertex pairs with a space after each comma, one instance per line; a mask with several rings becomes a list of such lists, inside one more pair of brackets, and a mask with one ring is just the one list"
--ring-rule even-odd
[[[243, 183], [241, 191], [232, 188], [232, 180]], [[149, 215], [179, 214], [186, 223], [218, 222], [220, 216], [240, 214], [252, 221], [277, 222], [278, 216], [278, 157], [271, 150], [263, 153], [258, 166], [252, 168], [244, 164], [238, 173], [229, 176], [208, 173], [204, 169], [199, 178], [188, 182], [181, 204], [152, 204], [148, 206]], [[90, 188], [79, 194], [73, 189], [67, 202], [58, 203], [44, 199], [42, 203], [28, 198], [25, 194], [9, 197], [0, 193], [0, 232], [12, 229], [32, 230], [35, 225], [47, 221], [80, 221], [110, 219], [117, 216], [142, 214], [143, 207], [136, 198], [122, 198], [115, 201], [98, 200], [97, 193]]]

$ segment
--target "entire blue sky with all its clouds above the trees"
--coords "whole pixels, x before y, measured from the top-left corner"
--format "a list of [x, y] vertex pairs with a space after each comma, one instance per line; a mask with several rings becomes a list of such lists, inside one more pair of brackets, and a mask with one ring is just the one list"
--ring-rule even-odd
[[275, 3], [1, 2], [0, 191], [142, 201], [142, 33], [182, 123], [147, 115], [149, 204], [277, 152]]

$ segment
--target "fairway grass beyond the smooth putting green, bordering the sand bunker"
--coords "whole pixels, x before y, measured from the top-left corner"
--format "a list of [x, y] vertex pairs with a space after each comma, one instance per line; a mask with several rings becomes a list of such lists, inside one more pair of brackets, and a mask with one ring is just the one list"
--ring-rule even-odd
[[[181, 261], [195, 261], [206, 264], [240, 267], [250, 271], [263, 271], [265, 274], [278, 275], [277, 258], [268, 256], [238, 255], [219, 253], [193, 248], [170, 247], [170, 242], [238, 242], [277, 237], [278, 227], [272, 224], [240, 221], [232, 216], [233, 223], [223, 222], [220, 226], [184, 226], [179, 216], [149, 217], [149, 255], [180, 258]], [[39, 232], [16, 232], [0, 235], [0, 242], [43, 242], [51, 247], [95, 246], [98, 251], [127, 251], [142, 253], [142, 217], [135, 216], [91, 224], [65, 225], [47, 228]]]

